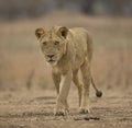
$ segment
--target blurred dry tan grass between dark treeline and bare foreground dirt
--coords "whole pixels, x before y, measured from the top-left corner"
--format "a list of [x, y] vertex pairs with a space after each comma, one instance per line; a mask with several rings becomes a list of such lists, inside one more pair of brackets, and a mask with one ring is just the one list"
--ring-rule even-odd
[[92, 74], [97, 84], [106, 88], [132, 84], [132, 19], [55, 12], [37, 20], [0, 23], [1, 90], [52, 89], [51, 69], [44, 62], [34, 30], [53, 25], [82, 26], [90, 31], [95, 42]]

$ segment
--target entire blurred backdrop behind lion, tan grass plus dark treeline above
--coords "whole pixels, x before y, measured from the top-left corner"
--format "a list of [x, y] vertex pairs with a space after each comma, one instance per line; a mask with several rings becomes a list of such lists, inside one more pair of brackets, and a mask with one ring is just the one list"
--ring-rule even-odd
[[34, 31], [85, 27], [94, 38], [99, 86], [132, 84], [132, 0], [0, 0], [0, 91], [55, 89]]

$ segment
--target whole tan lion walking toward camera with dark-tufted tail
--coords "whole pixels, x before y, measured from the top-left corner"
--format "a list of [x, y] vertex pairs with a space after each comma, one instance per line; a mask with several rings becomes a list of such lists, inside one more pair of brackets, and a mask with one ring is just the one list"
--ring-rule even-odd
[[[52, 67], [52, 77], [57, 91], [55, 115], [69, 112], [67, 96], [72, 80], [78, 89], [79, 113], [89, 113], [89, 86], [92, 84], [96, 95], [101, 97], [91, 77], [92, 39], [82, 27], [67, 28], [53, 26], [51, 30], [36, 28], [40, 47], [46, 62]], [[81, 80], [78, 71], [81, 71]]]

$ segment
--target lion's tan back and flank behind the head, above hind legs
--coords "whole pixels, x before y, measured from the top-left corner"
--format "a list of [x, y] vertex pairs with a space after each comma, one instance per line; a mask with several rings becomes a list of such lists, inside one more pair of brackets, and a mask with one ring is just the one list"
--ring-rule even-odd
[[69, 30], [72, 36], [70, 43], [74, 44], [75, 49], [75, 66], [79, 67], [86, 58], [91, 60], [92, 56], [92, 40], [90, 34], [86, 28], [75, 27]]

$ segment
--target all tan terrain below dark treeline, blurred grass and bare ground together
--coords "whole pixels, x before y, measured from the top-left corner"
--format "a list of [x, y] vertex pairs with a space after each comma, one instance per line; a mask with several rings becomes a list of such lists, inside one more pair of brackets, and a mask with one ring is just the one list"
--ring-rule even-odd
[[[88, 115], [78, 114], [74, 88], [68, 97], [70, 114], [53, 115], [56, 93], [51, 69], [34, 35], [35, 28], [53, 25], [81, 26], [94, 37], [92, 74], [103, 97], [95, 97], [91, 90]], [[0, 128], [132, 128], [132, 19], [58, 11], [0, 22]]]

